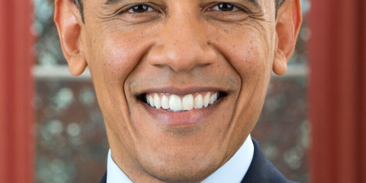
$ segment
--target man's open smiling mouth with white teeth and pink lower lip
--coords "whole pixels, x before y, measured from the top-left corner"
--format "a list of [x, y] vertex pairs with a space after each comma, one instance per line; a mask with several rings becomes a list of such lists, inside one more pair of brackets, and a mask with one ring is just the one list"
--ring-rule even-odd
[[159, 90], [143, 93], [139, 99], [153, 119], [163, 125], [177, 127], [203, 122], [217, 110], [226, 95], [223, 91], [208, 89], [194, 93]]

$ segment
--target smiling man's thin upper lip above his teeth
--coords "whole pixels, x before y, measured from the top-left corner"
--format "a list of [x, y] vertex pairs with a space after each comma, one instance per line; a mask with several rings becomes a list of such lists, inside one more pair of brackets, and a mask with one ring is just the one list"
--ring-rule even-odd
[[175, 95], [187, 95], [193, 94], [198, 92], [206, 92], [206, 91], [220, 91], [225, 92], [223, 88], [220, 87], [212, 87], [212, 86], [189, 86], [189, 87], [172, 87], [172, 86], [165, 86], [165, 87], [150, 87], [148, 89], [142, 89], [136, 96], [145, 94], [145, 93], [169, 93]]

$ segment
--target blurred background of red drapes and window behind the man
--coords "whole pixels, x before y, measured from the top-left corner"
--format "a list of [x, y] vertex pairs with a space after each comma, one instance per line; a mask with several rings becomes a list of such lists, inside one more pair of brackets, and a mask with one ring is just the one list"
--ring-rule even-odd
[[[0, 25], [9, 25], [0, 28], [0, 177], [4, 183], [98, 183], [109, 145], [90, 74], [68, 71], [54, 0], [25, 1], [0, 2]], [[295, 52], [286, 74], [273, 75], [251, 135], [289, 180], [363, 183], [366, 3], [301, 3]], [[348, 17], [330, 16], [338, 7]]]

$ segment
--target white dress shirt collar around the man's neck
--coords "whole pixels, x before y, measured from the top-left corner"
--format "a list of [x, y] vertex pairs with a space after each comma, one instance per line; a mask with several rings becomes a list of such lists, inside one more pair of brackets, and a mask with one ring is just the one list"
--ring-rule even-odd
[[[249, 169], [254, 154], [250, 135], [229, 161], [201, 183], [240, 183]], [[108, 152], [107, 183], [133, 183], [113, 161], [111, 150]]]

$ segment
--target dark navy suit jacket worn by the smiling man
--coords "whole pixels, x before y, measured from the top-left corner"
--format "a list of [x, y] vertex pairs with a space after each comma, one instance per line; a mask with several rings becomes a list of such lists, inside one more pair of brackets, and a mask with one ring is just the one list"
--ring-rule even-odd
[[[241, 183], [294, 183], [288, 181], [272, 163], [265, 159], [259, 143], [253, 138], [252, 141], [254, 144], [253, 160]], [[101, 183], [106, 183], [106, 180], [107, 172]]]

